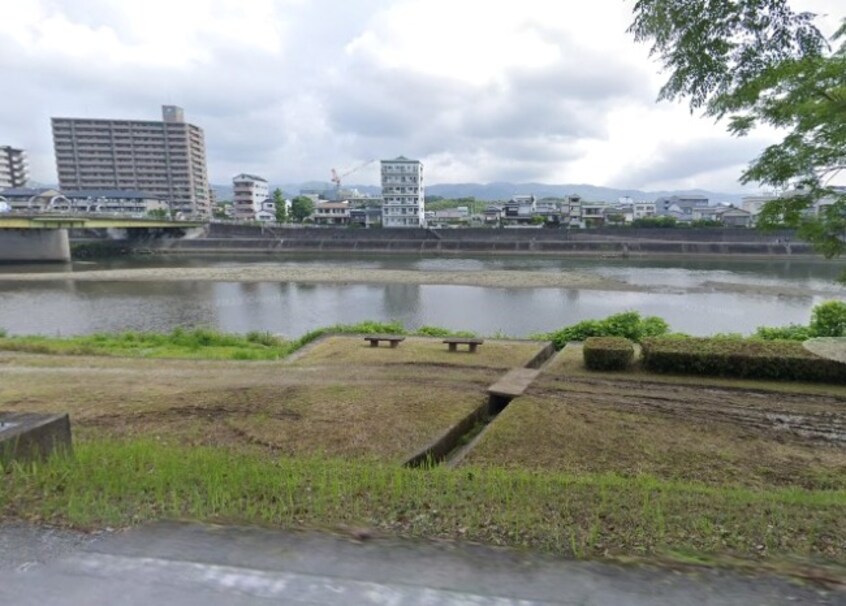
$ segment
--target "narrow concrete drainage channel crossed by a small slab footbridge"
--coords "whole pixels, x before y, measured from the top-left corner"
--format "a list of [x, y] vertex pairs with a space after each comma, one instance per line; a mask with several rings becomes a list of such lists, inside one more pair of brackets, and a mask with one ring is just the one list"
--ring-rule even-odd
[[434, 467], [445, 463], [452, 467], [473, 448], [488, 425], [511, 400], [523, 395], [541, 368], [555, 355], [552, 343], [544, 347], [523, 368], [512, 368], [488, 387], [488, 400], [455, 424], [447, 433], [408, 459], [405, 467]]

